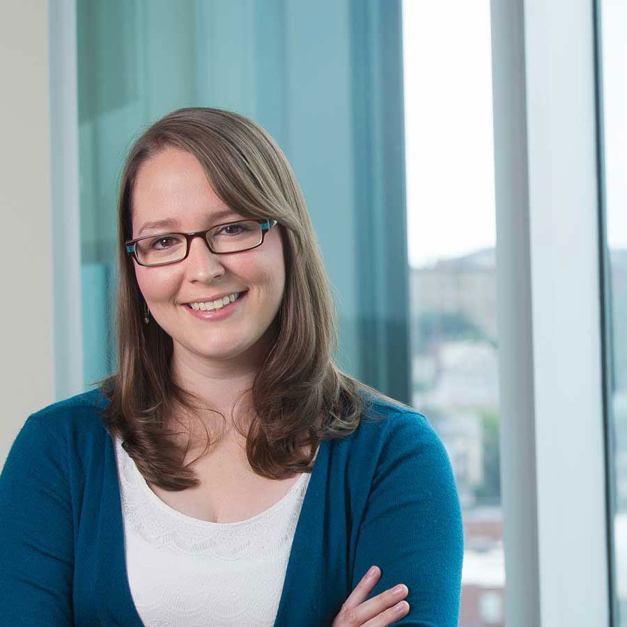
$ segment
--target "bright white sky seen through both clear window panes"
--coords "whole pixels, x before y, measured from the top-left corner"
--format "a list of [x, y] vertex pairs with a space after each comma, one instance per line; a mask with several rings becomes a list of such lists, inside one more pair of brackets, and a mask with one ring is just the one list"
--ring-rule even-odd
[[[623, 19], [603, 23], [607, 227], [627, 247], [627, 6], [610, 6]], [[411, 265], [495, 245], [490, 55], [489, 0], [403, 0]]]

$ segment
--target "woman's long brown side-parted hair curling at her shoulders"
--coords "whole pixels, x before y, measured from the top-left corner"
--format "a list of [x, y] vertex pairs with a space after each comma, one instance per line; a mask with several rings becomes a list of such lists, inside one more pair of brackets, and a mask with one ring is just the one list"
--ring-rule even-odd
[[[284, 243], [286, 284], [274, 320], [274, 342], [256, 372], [246, 435], [251, 468], [271, 479], [311, 472], [320, 440], [355, 431], [362, 415], [377, 419], [374, 398], [403, 405], [341, 372], [333, 362], [336, 310], [302, 192], [285, 155], [253, 121], [222, 109], [178, 109], [154, 123], [127, 156], [118, 198], [118, 284], [116, 373], [98, 382], [109, 399], [102, 424], [118, 435], [146, 481], [183, 490], [199, 480], [184, 464], [187, 444], [166, 428], [175, 408], [189, 415], [215, 411], [180, 387], [171, 376], [173, 341], [150, 318], [125, 240], [132, 238], [132, 192], [141, 164], [164, 148], [196, 157], [226, 205], [246, 218], [277, 219]], [[407, 407], [407, 405], [403, 405]], [[219, 412], [218, 412], [219, 413]], [[222, 414], [220, 414], [222, 416]], [[222, 416], [224, 418], [224, 416]], [[183, 431], [185, 433], [185, 431]], [[309, 447], [305, 454], [302, 447]]]

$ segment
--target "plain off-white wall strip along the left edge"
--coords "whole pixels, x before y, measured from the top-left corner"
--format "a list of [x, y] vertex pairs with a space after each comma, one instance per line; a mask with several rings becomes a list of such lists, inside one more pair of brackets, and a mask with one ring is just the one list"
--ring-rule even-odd
[[0, 464], [54, 401], [48, 68], [47, 1], [0, 3]]

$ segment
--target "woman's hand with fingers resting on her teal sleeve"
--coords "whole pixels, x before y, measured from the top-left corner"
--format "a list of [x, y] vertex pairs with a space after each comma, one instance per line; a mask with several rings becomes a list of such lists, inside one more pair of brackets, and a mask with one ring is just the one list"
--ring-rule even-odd
[[397, 594], [389, 588], [364, 602], [381, 575], [378, 566], [373, 568], [373, 575], [366, 573], [350, 593], [331, 627], [387, 627], [409, 612], [409, 603], [401, 601], [409, 592], [404, 584]]

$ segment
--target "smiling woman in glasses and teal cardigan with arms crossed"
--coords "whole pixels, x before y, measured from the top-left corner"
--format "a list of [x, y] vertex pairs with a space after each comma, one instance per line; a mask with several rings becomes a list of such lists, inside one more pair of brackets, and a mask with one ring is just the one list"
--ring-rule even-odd
[[155, 123], [118, 250], [116, 373], [29, 417], [0, 478], [6, 624], [456, 625], [449, 459], [424, 416], [334, 366], [320, 252], [268, 134], [219, 109]]

